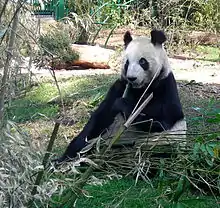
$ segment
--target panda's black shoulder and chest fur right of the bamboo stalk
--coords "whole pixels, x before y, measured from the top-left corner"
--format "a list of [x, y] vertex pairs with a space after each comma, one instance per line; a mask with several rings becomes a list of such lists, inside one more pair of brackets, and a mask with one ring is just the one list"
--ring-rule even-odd
[[[144, 90], [145, 88], [131, 89], [127, 102], [132, 103], [134, 106]], [[147, 95], [151, 92], [153, 92], [153, 99], [143, 109], [142, 114], [138, 116], [136, 122], [153, 119], [153, 123], [149, 121], [139, 124], [137, 127], [144, 131], [150, 130], [151, 132], [161, 132], [171, 129], [177, 121], [184, 118], [173, 73], [170, 72], [168, 76], [163, 79], [156, 79], [149, 88]], [[128, 112], [128, 114], [129, 113], [130, 112]]]

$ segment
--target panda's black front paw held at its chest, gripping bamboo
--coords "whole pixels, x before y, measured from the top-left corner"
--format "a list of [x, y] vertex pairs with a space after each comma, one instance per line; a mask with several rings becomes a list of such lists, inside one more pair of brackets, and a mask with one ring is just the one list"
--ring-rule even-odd
[[128, 118], [133, 110], [134, 105], [126, 98], [119, 98], [114, 102], [113, 111], [117, 113], [122, 113]]

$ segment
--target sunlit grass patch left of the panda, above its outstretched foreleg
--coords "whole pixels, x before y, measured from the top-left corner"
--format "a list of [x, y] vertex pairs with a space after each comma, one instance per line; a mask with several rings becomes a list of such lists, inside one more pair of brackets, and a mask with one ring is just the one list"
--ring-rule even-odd
[[[114, 78], [110, 76], [106, 83], [103, 83], [102, 76], [60, 79], [58, 83], [67, 106], [85, 100], [88, 104], [91, 102], [92, 106], [94, 99], [97, 99], [97, 93], [103, 95]], [[59, 94], [54, 82], [44, 81], [27, 92], [25, 97], [13, 100], [6, 108], [6, 114], [8, 119], [19, 123], [43, 118], [51, 119], [59, 113], [60, 102], [57, 97]]]

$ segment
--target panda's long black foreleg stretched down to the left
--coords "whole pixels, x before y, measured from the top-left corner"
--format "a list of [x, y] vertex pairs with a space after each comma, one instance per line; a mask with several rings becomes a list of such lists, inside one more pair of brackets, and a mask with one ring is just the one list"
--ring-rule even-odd
[[57, 160], [58, 163], [76, 157], [77, 153], [87, 145], [86, 139], [98, 137], [113, 123], [118, 114], [117, 108], [114, 107], [115, 103], [117, 99], [122, 97], [125, 88], [126, 82], [120, 79], [112, 85], [105, 99], [92, 113], [83, 130], [70, 142], [63, 156]]

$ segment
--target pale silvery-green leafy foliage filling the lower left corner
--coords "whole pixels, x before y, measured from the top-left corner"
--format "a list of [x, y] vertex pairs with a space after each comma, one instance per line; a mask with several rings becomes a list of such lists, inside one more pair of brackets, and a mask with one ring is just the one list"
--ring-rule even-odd
[[24, 207], [31, 198], [32, 179], [41, 168], [42, 153], [35, 149], [26, 132], [13, 122], [7, 122], [0, 143], [0, 206]]

